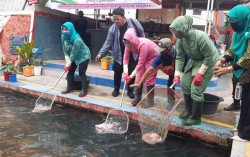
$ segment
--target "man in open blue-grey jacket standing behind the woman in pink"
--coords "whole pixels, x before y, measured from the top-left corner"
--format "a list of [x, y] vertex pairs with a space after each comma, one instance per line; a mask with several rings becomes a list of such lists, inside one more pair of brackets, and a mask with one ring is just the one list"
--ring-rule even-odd
[[[136, 30], [136, 34], [138, 37], [145, 37], [144, 30], [140, 24], [140, 22], [136, 19], [129, 19], [126, 18], [124, 15], [124, 9], [121, 7], [115, 8], [113, 10], [113, 20], [114, 24], [109, 28], [107, 39], [105, 43], [103, 44], [99, 54], [96, 56], [96, 60], [100, 60], [102, 57], [104, 57], [108, 51], [112, 48], [112, 55], [114, 58], [114, 91], [112, 92], [113, 97], [117, 97], [119, 95], [120, 90], [120, 84], [121, 84], [121, 78], [123, 73], [123, 56], [124, 56], [124, 50], [125, 45], [122, 42], [124, 33], [129, 28], [134, 28]], [[131, 72], [135, 69], [135, 66], [138, 61], [138, 55], [131, 53], [129, 56], [129, 64], [128, 64], [128, 73], [131, 74]], [[134, 83], [133, 79], [130, 84]], [[127, 95], [133, 99], [135, 97], [133, 93], [133, 88], [130, 88], [128, 84], [128, 92]]]

